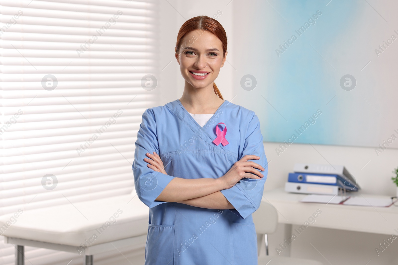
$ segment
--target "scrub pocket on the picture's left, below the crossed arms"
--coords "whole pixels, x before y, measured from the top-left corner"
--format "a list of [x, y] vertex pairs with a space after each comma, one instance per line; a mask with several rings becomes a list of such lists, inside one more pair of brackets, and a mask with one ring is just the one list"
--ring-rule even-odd
[[149, 224], [145, 265], [174, 264], [174, 224]]

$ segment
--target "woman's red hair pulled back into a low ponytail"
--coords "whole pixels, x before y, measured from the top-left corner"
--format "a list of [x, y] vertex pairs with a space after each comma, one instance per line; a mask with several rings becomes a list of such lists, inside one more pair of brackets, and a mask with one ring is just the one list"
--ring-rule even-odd
[[[179, 54], [179, 49], [181, 48], [181, 45], [187, 46], [187, 43], [183, 44], [183, 39], [185, 35], [187, 35], [189, 32], [194, 31], [194, 30], [199, 30], [199, 31], [205, 31], [208, 30], [210, 33], [213, 33], [216, 35], [217, 38], [220, 39], [222, 43], [222, 57], [224, 57], [225, 52], [226, 52], [226, 46], [227, 46], [227, 39], [226, 39], [226, 33], [222, 25], [220, 24], [219, 21], [208, 17], [207, 15], [201, 15], [198, 17], [192, 17], [191, 19], [188, 19], [185, 21], [181, 28], [178, 31], [177, 35], [177, 43], [176, 43], [176, 52]], [[215, 83], [213, 83], [213, 89], [214, 93], [219, 96], [220, 99], [222, 98], [222, 95]]]

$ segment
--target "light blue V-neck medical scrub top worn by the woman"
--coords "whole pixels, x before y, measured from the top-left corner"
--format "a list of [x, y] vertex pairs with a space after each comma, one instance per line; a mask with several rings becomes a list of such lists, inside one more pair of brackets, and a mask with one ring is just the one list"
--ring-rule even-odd
[[[216, 145], [216, 126], [227, 127], [229, 142]], [[219, 125], [222, 130], [224, 126]], [[166, 174], [143, 159], [156, 152]], [[243, 179], [221, 193], [235, 209], [205, 209], [176, 202], [155, 201], [167, 184], [178, 178], [219, 178], [244, 155], [254, 161], [261, 180]], [[150, 207], [145, 265], [257, 265], [257, 237], [252, 213], [260, 205], [268, 166], [257, 115], [224, 101], [201, 127], [179, 99], [148, 108], [135, 143], [133, 174], [140, 200]]]

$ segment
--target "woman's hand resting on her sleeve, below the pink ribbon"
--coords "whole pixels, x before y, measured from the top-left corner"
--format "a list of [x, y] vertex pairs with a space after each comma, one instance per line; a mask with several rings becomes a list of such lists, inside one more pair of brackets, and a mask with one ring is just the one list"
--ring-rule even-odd
[[242, 178], [254, 178], [260, 180], [264, 177], [264, 175], [256, 170], [256, 168], [262, 171], [265, 169], [253, 161], [248, 162], [250, 159], [260, 159], [260, 157], [256, 155], [245, 155], [239, 161], [236, 161], [234, 166], [232, 166], [224, 176], [219, 178], [223, 182], [225, 189], [232, 188]]

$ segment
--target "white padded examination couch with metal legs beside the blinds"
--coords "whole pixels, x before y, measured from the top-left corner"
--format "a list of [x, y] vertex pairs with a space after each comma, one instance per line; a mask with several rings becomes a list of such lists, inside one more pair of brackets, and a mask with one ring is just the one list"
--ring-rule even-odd
[[14, 223], [9, 222], [12, 214], [2, 215], [0, 232], [5, 243], [16, 248], [16, 265], [25, 264], [24, 246], [78, 253], [85, 256], [85, 265], [93, 265], [95, 254], [143, 248], [148, 213], [133, 190], [127, 195], [25, 210]]

